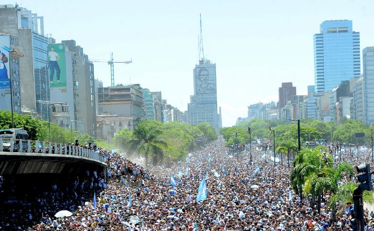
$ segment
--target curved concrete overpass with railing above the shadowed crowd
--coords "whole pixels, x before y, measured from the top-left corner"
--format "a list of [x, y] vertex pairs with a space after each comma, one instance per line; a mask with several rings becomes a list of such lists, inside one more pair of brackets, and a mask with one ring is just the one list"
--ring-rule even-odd
[[[1, 138], [0, 138], [1, 141]], [[25, 142], [25, 140], [24, 140]], [[13, 152], [13, 145], [10, 150], [0, 152], [0, 175], [52, 173], [52, 174], [78, 174], [86, 169], [97, 169], [106, 173], [104, 158], [93, 150], [74, 145], [56, 144], [42, 142], [40, 148], [31, 147], [27, 140], [24, 148], [17, 147], [25, 152]], [[10, 142], [13, 144], [13, 142]], [[2, 150], [0, 142], [0, 150]], [[34, 147], [38, 147], [38, 141]], [[52, 147], [59, 147], [54, 150]], [[106, 175], [106, 174], [105, 174]]]

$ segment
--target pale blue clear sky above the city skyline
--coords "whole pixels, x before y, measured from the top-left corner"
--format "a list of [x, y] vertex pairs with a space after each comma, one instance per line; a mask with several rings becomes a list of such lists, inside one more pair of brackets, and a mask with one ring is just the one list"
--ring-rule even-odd
[[[15, 2], [3, 1], [14, 4]], [[74, 39], [91, 59], [115, 64], [115, 83], [140, 83], [187, 110], [198, 63], [199, 14], [204, 53], [217, 65], [222, 124], [247, 117], [247, 107], [278, 101], [282, 82], [298, 95], [314, 84], [313, 34], [326, 20], [348, 19], [361, 50], [374, 46], [373, 0], [22, 0], [44, 17], [46, 34]], [[48, 35], [50, 36], [50, 35]], [[94, 63], [95, 78], [110, 86], [110, 67]]]

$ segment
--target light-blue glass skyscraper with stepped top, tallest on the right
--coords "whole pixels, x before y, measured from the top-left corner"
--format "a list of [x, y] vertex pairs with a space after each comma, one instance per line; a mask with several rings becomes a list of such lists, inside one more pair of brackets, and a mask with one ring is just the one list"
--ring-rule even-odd
[[322, 22], [313, 43], [316, 93], [331, 91], [342, 81], [360, 76], [360, 33], [353, 31], [352, 21]]

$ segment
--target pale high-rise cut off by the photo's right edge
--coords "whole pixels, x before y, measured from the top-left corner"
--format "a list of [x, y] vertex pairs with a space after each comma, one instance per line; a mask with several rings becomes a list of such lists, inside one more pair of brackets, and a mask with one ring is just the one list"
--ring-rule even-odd
[[364, 121], [371, 125], [374, 122], [374, 47], [366, 47], [362, 51], [364, 72]]

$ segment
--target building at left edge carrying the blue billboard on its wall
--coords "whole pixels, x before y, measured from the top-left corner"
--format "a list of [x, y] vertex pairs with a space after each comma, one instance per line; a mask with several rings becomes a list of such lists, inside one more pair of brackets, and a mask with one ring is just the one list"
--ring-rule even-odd
[[13, 101], [13, 112], [16, 113], [21, 113], [22, 102], [19, 58], [23, 55], [19, 49], [16, 37], [0, 33], [0, 110], [11, 111]]

